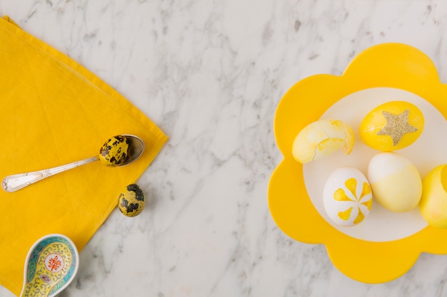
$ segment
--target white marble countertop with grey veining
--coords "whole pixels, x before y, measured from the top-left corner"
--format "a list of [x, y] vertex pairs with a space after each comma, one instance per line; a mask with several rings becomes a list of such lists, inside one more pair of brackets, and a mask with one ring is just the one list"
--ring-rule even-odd
[[[170, 137], [139, 179], [144, 212], [127, 219], [116, 209], [60, 296], [446, 296], [447, 256], [421, 254], [395, 281], [359, 283], [324, 246], [283, 234], [267, 203], [286, 90], [340, 75], [384, 42], [420, 49], [447, 82], [446, 1], [0, 0], [0, 14]], [[0, 287], [0, 296], [13, 295]]]

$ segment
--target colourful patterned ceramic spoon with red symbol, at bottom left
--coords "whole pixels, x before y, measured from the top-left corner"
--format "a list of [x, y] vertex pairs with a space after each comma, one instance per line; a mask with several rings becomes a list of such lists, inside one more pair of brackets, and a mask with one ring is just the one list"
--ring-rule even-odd
[[41, 237], [29, 249], [21, 297], [56, 296], [73, 281], [79, 254], [73, 241], [61, 234]]

